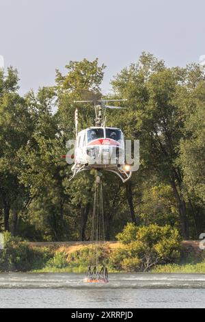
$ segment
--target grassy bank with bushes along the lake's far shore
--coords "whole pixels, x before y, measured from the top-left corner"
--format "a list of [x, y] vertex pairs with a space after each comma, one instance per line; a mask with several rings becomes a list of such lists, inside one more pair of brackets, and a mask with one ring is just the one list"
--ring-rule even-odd
[[[99, 262], [110, 273], [205, 273], [205, 253], [182, 249], [174, 232], [168, 226], [129, 224], [118, 234], [119, 243], [100, 246]], [[95, 262], [92, 245], [34, 247], [9, 233], [4, 234], [4, 242], [0, 272], [85, 273]]]

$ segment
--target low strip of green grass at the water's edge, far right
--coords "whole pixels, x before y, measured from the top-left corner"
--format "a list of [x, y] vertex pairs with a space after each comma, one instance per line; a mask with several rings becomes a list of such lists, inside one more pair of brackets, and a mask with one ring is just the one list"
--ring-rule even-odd
[[205, 274], [205, 261], [197, 264], [167, 264], [159, 265], [152, 269], [151, 273], [204, 273]]

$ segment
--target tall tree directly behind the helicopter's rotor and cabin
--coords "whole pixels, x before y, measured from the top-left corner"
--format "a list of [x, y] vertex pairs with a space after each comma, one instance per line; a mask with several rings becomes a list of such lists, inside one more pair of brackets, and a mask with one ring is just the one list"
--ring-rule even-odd
[[[100, 84], [105, 65], [98, 66], [97, 58], [93, 62], [83, 59], [81, 62], [70, 62], [66, 65], [66, 69], [68, 71], [66, 75], [57, 71], [55, 86], [58, 106], [57, 118], [65, 146], [67, 140], [75, 138], [74, 110], [78, 105], [74, 104], [74, 100], [92, 100], [101, 96]], [[81, 104], [79, 104], [79, 107], [82, 108]], [[85, 108], [84, 110], [82, 108], [79, 113], [79, 128], [86, 128], [92, 125], [93, 121], [94, 109], [91, 104], [87, 104], [86, 112]], [[68, 164], [65, 164], [65, 167], [70, 170]], [[87, 173], [86, 176], [81, 175], [74, 182], [68, 182], [68, 178], [64, 179], [66, 192], [70, 194], [71, 198], [70, 207], [80, 221], [80, 225], [77, 225], [79, 227], [77, 236], [81, 240], [87, 238], [85, 230], [88, 215], [92, 208], [93, 182], [90, 182], [90, 178], [93, 179], [93, 176], [90, 177]]]

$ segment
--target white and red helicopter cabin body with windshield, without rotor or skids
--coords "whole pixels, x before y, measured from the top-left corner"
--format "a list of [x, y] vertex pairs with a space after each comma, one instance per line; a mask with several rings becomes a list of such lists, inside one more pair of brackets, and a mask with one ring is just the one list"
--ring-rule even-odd
[[89, 127], [77, 135], [73, 168], [115, 169], [124, 166], [124, 136], [117, 127]]

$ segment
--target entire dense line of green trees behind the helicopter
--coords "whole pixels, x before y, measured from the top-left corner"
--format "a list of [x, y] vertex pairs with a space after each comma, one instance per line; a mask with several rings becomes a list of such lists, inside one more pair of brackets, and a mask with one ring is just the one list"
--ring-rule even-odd
[[[98, 60], [70, 62], [55, 86], [24, 97], [15, 69], [0, 71], [0, 229], [28, 240], [88, 240], [94, 173], [68, 182], [61, 158], [75, 138], [74, 99], [100, 97], [105, 66]], [[126, 225], [171, 225], [184, 239], [205, 228], [205, 77], [197, 64], [167, 68], [142, 53], [113, 77], [109, 97], [126, 98], [107, 123], [140, 140], [140, 167], [122, 184], [103, 175], [106, 238]], [[57, 112], [53, 108], [57, 107]], [[92, 125], [87, 104], [81, 129]]]

